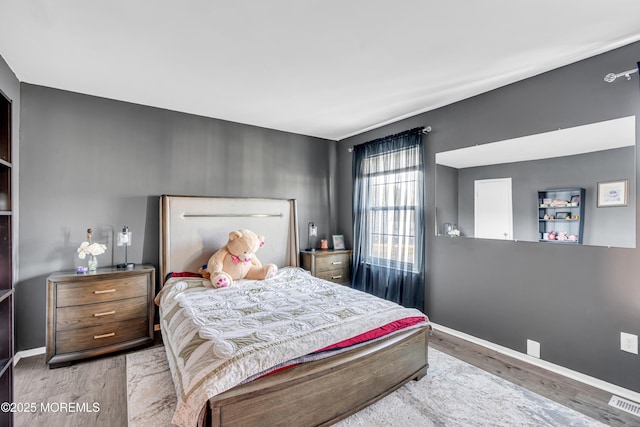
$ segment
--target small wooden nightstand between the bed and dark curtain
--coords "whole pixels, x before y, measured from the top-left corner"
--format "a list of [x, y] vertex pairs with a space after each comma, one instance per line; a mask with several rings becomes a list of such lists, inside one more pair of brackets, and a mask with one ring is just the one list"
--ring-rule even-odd
[[302, 251], [302, 268], [312, 275], [342, 285], [351, 284], [351, 250]]

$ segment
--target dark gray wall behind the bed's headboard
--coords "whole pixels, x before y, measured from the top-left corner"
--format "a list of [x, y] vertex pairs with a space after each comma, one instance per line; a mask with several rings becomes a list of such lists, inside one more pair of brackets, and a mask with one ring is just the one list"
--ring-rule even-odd
[[[17, 350], [45, 345], [46, 277], [86, 264], [87, 228], [113, 244], [133, 232], [129, 261], [158, 266], [162, 194], [292, 198], [307, 223], [335, 231], [333, 141], [22, 84]], [[162, 90], [162, 88], [158, 88]], [[267, 242], [268, 244], [268, 242]]]

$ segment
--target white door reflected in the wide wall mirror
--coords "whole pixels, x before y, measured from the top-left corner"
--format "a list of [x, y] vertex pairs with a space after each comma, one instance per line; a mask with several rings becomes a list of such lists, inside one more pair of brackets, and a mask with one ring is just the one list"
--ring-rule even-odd
[[513, 240], [511, 178], [476, 180], [474, 194], [475, 237]]

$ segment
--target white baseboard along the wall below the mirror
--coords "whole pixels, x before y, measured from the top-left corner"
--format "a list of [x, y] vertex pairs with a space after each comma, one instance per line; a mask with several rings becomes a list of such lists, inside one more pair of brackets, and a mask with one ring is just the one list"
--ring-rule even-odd
[[628, 400], [632, 400], [634, 402], [640, 402], [640, 393], [635, 392], [633, 390], [629, 390], [615, 384], [608, 383], [606, 381], [599, 380], [598, 378], [591, 377], [589, 375], [582, 374], [577, 371], [572, 371], [571, 369], [565, 368], [560, 365], [555, 365], [551, 362], [547, 362], [542, 359], [538, 359], [532, 356], [529, 356], [524, 353], [520, 353], [518, 351], [512, 350], [507, 347], [503, 347], [498, 344], [494, 344], [490, 341], [483, 340], [481, 338], [474, 337], [473, 335], [465, 334], [464, 332], [456, 331], [455, 329], [447, 328], [446, 326], [438, 325], [437, 323], [431, 323], [433, 329], [445, 332], [447, 334], [453, 335], [455, 337], [461, 338], [463, 340], [472, 342], [474, 344], [481, 345], [482, 347], [489, 348], [491, 350], [495, 350], [498, 353], [505, 354], [507, 356], [511, 356], [515, 359], [522, 360], [524, 362], [530, 363], [532, 365], [538, 366], [540, 368], [544, 368], [548, 371], [555, 372], [556, 374], [563, 375], [567, 378], [571, 378], [576, 381], [580, 381], [583, 384], [590, 385], [592, 387], [599, 388], [608, 393], [615, 394], [617, 396], [623, 397]]

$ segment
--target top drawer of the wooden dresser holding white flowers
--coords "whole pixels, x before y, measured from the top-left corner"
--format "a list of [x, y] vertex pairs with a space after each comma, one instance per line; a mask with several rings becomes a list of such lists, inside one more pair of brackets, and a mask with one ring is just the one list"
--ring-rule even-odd
[[148, 288], [147, 276], [141, 275], [96, 280], [90, 284], [82, 282], [59, 283], [57, 286], [57, 307], [146, 297]]

